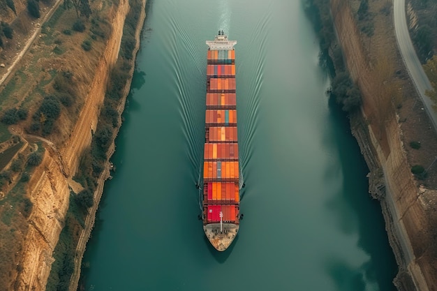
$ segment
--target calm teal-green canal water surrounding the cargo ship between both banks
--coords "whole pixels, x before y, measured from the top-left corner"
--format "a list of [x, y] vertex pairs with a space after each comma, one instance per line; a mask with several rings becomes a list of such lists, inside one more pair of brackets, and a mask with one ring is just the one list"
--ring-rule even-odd
[[[394, 290], [397, 267], [301, 1], [148, 0], [124, 124], [84, 256], [85, 290]], [[244, 220], [202, 232], [205, 40], [237, 40]]]

